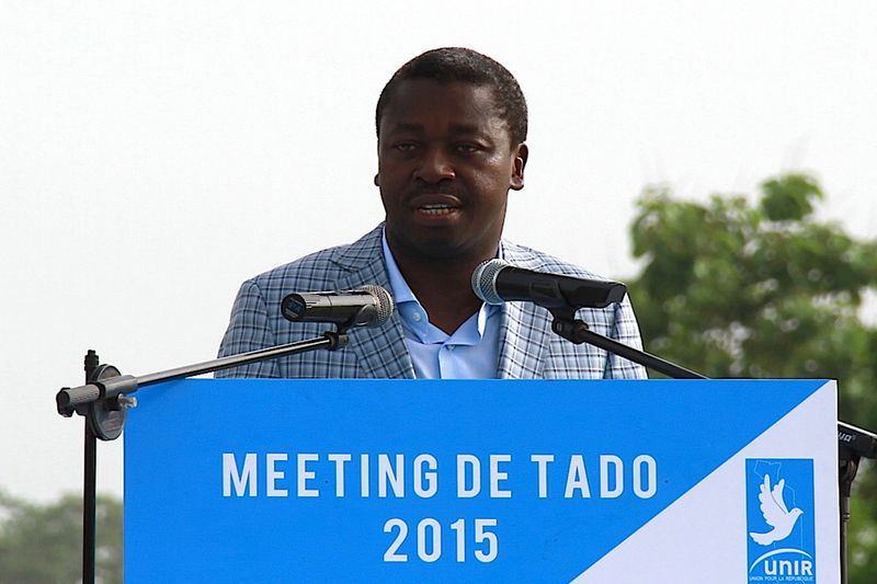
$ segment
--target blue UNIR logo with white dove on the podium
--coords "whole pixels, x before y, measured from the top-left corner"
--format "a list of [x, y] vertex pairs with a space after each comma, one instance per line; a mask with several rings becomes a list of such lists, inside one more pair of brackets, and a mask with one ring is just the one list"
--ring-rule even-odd
[[747, 459], [749, 583], [816, 582], [813, 461]]

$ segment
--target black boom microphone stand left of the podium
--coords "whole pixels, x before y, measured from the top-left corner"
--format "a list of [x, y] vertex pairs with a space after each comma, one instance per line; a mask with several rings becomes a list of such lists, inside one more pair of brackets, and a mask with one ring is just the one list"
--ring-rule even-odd
[[139, 377], [122, 375], [112, 365], [101, 365], [98, 354], [93, 350], [89, 350], [86, 354], [86, 385], [76, 388], [61, 388], [55, 397], [60, 415], [70, 417], [73, 413], [77, 413], [86, 419], [84, 482], [82, 488], [82, 584], [94, 584], [95, 579], [96, 439], [114, 440], [122, 434], [127, 409], [137, 405], [137, 399], [130, 397], [130, 393], [141, 387], [171, 379], [193, 377], [295, 353], [318, 348], [335, 351], [345, 346], [348, 341], [345, 328], [339, 325], [337, 332], [327, 331], [320, 337], [230, 355]]

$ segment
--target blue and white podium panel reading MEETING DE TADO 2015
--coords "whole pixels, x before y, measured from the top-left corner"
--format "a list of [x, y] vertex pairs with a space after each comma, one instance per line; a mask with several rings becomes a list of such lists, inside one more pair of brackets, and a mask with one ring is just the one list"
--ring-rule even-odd
[[832, 381], [185, 380], [125, 437], [125, 581], [819, 582]]

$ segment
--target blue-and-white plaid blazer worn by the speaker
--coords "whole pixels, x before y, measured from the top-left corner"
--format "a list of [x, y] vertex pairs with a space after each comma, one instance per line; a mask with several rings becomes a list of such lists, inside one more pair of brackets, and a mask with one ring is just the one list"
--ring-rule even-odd
[[[322, 250], [248, 279], [231, 309], [219, 355], [235, 355], [321, 336], [328, 324], [292, 323], [281, 313], [291, 293], [344, 290], [366, 284], [390, 289], [381, 249], [383, 225], [350, 245]], [[510, 264], [596, 278], [550, 255], [503, 241]], [[643, 367], [591, 345], [573, 344], [551, 332], [551, 316], [531, 302], [502, 305], [498, 378], [640, 379]], [[627, 297], [605, 309], [582, 309], [592, 331], [640, 348], [639, 328]], [[338, 351], [312, 351], [216, 373], [216, 377], [414, 378], [398, 313], [378, 328], [353, 328]]]

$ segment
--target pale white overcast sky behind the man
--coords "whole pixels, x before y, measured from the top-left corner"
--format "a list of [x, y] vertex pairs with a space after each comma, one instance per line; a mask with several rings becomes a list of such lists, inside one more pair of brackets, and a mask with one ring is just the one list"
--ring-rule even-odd
[[[0, 486], [81, 490], [54, 397], [86, 350], [209, 359], [241, 280], [377, 225], [375, 102], [419, 53], [469, 46], [523, 87], [506, 237], [623, 279], [649, 183], [811, 171], [825, 218], [877, 236], [875, 31], [872, 1], [0, 0]], [[122, 494], [122, 440], [98, 451]]]

